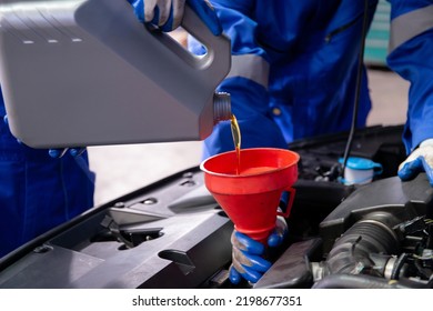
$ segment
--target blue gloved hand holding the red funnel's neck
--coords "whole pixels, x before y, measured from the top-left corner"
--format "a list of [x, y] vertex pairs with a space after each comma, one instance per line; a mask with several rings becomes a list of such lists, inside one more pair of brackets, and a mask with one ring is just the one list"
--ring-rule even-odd
[[[288, 224], [283, 217], [276, 218], [275, 229], [268, 238], [269, 247], [278, 247], [288, 234]], [[233, 230], [231, 242], [232, 265], [229, 271], [229, 279], [233, 284], [238, 284], [241, 278], [256, 283], [259, 279], [271, 268], [271, 262], [263, 259], [265, 247], [249, 238], [248, 235]]]

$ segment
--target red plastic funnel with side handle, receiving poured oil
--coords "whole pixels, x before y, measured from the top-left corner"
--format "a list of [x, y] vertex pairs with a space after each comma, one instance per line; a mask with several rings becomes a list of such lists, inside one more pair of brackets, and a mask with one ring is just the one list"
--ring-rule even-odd
[[266, 243], [275, 227], [276, 211], [283, 191], [290, 191], [284, 214], [289, 217], [294, 199], [293, 183], [298, 180], [298, 153], [285, 149], [242, 149], [239, 174], [235, 151], [204, 160], [200, 168], [204, 183], [216, 202], [234, 223], [250, 238]]

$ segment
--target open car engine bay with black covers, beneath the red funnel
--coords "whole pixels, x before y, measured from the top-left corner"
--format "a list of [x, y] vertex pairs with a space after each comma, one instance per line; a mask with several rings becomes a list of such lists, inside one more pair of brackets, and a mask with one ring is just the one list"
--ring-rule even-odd
[[289, 234], [255, 284], [230, 283], [233, 223], [191, 168], [0, 259], [0, 288], [433, 288], [433, 188], [395, 175], [402, 130], [356, 132], [351, 156], [383, 167], [363, 185], [338, 180], [346, 133], [289, 146], [301, 156]]

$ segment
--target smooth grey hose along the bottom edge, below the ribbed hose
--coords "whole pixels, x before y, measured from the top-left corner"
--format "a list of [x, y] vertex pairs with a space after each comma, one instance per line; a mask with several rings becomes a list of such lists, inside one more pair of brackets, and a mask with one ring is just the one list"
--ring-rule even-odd
[[382, 278], [362, 274], [331, 274], [314, 283], [313, 289], [425, 289], [416, 282], [389, 281]]

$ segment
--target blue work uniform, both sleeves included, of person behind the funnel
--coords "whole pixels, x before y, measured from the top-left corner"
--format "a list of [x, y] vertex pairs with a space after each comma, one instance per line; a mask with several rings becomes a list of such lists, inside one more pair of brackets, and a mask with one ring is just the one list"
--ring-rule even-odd
[[[224, 33], [232, 40], [232, 68], [219, 91], [232, 97], [242, 148], [286, 148], [293, 140], [350, 129], [364, 1], [211, 2]], [[377, 1], [367, 2], [370, 23]], [[432, 20], [432, 1], [391, 2], [393, 21], [413, 12]], [[397, 36], [401, 40], [389, 58], [390, 67], [412, 82], [404, 133], [407, 152], [433, 136], [433, 122], [424, 121], [426, 116], [433, 120], [432, 24], [427, 22], [415, 29], [406, 38]], [[392, 30], [399, 34], [400, 29]], [[191, 49], [203, 53], [198, 42], [192, 41]], [[364, 70], [358, 128], [365, 126], [370, 109]], [[221, 122], [205, 140], [203, 157], [232, 149], [230, 123]]]

